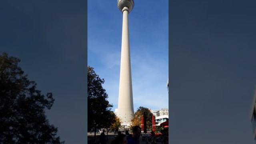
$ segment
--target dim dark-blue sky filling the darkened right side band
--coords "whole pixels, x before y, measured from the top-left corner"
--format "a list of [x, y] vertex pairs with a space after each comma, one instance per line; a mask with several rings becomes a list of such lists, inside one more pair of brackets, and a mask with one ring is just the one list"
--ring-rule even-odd
[[256, 1], [170, 1], [170, 142], [254, 144]]

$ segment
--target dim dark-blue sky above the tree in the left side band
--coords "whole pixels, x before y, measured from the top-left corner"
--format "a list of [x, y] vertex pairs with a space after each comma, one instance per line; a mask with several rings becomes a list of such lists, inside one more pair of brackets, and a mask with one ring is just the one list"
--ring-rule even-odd
[[55, 99], [46, 116], [66, 144], [86, 142], [86, 1], [1, 0], [0, 53], [42, 94]]

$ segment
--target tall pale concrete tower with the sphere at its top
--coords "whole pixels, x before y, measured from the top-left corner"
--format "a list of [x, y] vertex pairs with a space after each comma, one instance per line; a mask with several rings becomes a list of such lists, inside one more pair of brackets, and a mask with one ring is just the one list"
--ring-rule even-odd
[[132, 10], [132, 7], [129, 4], [132, 4], [133, 7], [133, 0], [118, 0], [118, 8], [122, 10], [123, 13], [123, 23], [117, 116], [121, 118], [123, 124], [130, 123], [134, 116], [128, 26], [128, 15], [129, 12]]

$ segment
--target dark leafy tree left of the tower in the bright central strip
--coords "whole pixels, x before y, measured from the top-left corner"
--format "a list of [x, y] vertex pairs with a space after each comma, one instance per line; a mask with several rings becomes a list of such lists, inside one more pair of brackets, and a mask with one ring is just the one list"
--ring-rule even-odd
[[94, 68], [88, 66], [88, 131], [94, 128], [94, 136], [96, 137], [96, 128], [106, 128], [115, 122], [113, 107], [109, 104], [108, 94], [102, 87], [104, 79], [101, 79], [94, 71]]

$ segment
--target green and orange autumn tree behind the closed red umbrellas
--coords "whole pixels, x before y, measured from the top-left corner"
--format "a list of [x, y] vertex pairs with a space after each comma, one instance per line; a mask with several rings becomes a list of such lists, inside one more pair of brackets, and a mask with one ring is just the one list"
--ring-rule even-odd
[[132, 126], [136, 126], [138, 124], [141, 126], [141, 118], [144, 112], [146, 112], [147, 115], [147, 128], [152, 128], [152, 113], [148, 108], [143, 106], [140, 106], [137, 109], [137, 112], [134, 114], [134, 118], [132, 119]]

